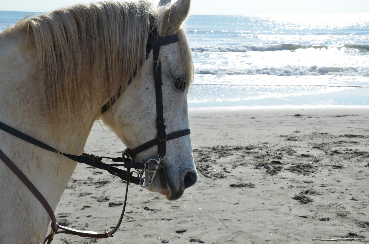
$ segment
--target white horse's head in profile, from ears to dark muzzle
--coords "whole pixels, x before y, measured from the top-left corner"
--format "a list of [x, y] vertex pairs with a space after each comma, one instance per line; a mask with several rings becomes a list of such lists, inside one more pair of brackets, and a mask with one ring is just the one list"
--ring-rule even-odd
[[[181, 24], [186, 19], [190, 0], [179, 0], [170, 5], [161, 1], [155, 20], [159, 36], [177, 34], [178, 42], [162, 45], [159, 60], [162, 65], [162, 104], [166, 133], [189, 128], [187, 92], [193, 80], [190, 48]], [[104, 123], [120, 137], [130, 149], [157, 137], [157, 112], [154, 82], [153, 51], [132, 79], [111, 111], [101, 115]], [[156, 158], [154, 146], [137, 154], [136, 160]], [[159, 156], [160, 157], [160, 156]], [[147, 177], [148, 175], [146, 175]], [[184, 189], [197, 181], [189, 135], [166, 142], [166, 155], [155, 174], [149, 191], [159, 192], [169, 200], [183, 195]]]

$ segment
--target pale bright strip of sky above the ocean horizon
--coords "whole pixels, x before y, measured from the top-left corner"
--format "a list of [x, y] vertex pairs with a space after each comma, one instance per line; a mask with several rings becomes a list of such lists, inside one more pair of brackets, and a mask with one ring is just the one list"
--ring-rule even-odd
[[[1, 0], [0, 10], [47, 12], [79, 0]], [[158, 3], [159, 0], [150, 0]], [[192, 0], [190, 14], [369, 13], [369, 0]]]

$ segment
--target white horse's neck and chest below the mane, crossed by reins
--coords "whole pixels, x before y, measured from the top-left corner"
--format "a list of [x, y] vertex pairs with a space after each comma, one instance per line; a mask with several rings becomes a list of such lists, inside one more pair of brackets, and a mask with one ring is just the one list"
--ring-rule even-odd
[[[96, 117], [91, 109], [83, 109], [82, 127], [79, 116], [61, 116], [59, 143], [55, 141], [56, 128], [45, 115], [37, 72], [34, 72], [35, 52], [25, 45], [26, 38], [24, 32], [6, 36], [0, 33], [0, 121], [59, 151], [80, 154]], [[0, 149], [55, 210], [76, 163], [2, 130]], [[1, 160], [0, 195], [0, 243], [40, 243], [50, 218], [41, 203]]]

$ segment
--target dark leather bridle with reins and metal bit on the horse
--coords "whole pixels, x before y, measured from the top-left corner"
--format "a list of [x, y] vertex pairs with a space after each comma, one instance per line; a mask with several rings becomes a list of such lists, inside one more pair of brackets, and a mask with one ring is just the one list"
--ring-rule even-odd
[[[122, 157], [115, 157], [115, 158], [114, 157], [99, 157], [99, 156], [95, 156], [93, 154], [88, 154], [85, 152], [83, 152], [82, 155], [77, 156], [77, 155], [72, 155], [68, 153], [62, 153], [54, 149], [53, 147], [50, 147], [47, 144], [40, 142], [39, 140], [34, 139], [33, 137], [28, 136], [20, 132], [19, 130], [16, 130], [0, 122], [0, 129], [10, 133], [13, 136], [23, 139], [45, 150], [52, 151], [58, 154], [62, 154], [63, 156], [68, 157], [69, 159], [76, 161], [78, 163], [83, 163], [83, 164], [87, 164], [95, 168], [106, 170], [110, 174], [120, 177], [122, 180], [127, 182], [123, 210], [122, 210], [118, 223], [111, 231], [95, 232], [95, 231], [82, 231], [82, 230], [68, 228], [65, 226], [61, 226], [56, 222], [54, 212], [51, 206], [49, 205], [49, 203], [44, 198], [44, 196], [42, 196], [42, 194], [37, 190], [37, 188], [32, 184], [32, 182], [23, 174], [23, 172], [13, 163], [13, 161], [11, 161], [10, 158], [8, 158], [3, 153], [3, 151], [0, 150], [0, 159], [3, 160], [4, 163], [18, 176], [18, 178], [21, 181], [23, 181], [26, 187], [30, 189], [30, 191], [36, 196], [36, 198], [44, 206], [44, 208], [46, 209], [46, 211], [48, 212], [51, 218], [51, 233], [48, 236], [46, 236], [44, 244], [46, 243], [46, 241], [48, 244], [50, 244], [54, 238], [54, 235], [59, 234], [59, 233], [66, 233], [66, 234], [73, 234], [73, 235], [81, 236], [81, 237], [94, 237], [94, 238], [107, 238], [107, 237], [113, 236], [113, 234], [115, 233], [115, 231], [118, 230], [123, 220], [125, 206], [127, 203], [129, 183], [131, 182], [137, 185], [141, 185], [141, 187], [147, 187], [148, 185], [152, 184], [156, 171], [160, 170], [161, 168], [160, 163], [165, 157], [166, 142], [169, 140], [173, 140], [175, 138], [186, 136], [190, 134], [190, 129], [180, 130], [177, 132], [170, 133], [168, 135], [166, 134], [165, 120], [163, 116], [162, 64], [161, 64], [161, 61], [159, 60], [159, 53], [160, 53], [160, 47], [162, 45], [177, 42], [178, 35], [175, 34], [175, 35], [170, 35], [170, 36], [165, 36], [165, 37], [159, 36], [158, 29], [153, 23], [154, 22], [151, 20], [151, 25], [150, 25], [151, 31], [149, 32], [147, 45], [146, 45], [146, 60], [148, 59], [149, 54], [152, 50], [153, 56], [154, 56], [153, 67], [154, 67], [155, 97], [156, 97], [156, 129], [157, 129], [156, 139], [146, 142], [142, 144], [141, 146], [138, 146], [134, 149], [128, 149], [128, 148], [125, 149], [122, 153]], [[130, 84], [131, 81], [134, 79], [134, 77], [136, 76], [136, 73], [137, 73], [137, 69], [132, 75], [132, 78], [130, 79], [128, 84]], [[121, 90], [122, 90], [122, 86], [118, 89], [117, 93], [112, 98], [110, 98], [109, 102], [106, 103], [101, 108], [101, 113], [106, 112], [115, 103], [115, 101], [120, 97]], [[135, 157], [137, 156], [138, 153], [141, 153], [142, 151], [145, 151], [156, 145], [158, 145], [158, 156], [157, 157], [149, 158], [145, 161], [140, 161], [140, 162], [137, 162], [135, 160]], [[102, 160], [104, 158], [110, 159], [115, 163], [113, 164], [103, 163]], [[127, 170], [122, 170], [120, 168], [117, 168], [118, 166], [125, 167]], [[131, 169], [135, 169], [137, 171], [131, 172], [130, 171]], [[133, 176], [132, 175], [133, 173], [136, 173], [137, 176]]]

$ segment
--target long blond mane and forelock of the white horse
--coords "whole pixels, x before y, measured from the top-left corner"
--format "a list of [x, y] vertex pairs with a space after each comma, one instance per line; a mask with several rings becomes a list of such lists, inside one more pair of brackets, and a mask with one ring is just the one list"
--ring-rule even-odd
[[[94, 102], [108, 101], [118, 87], [128, 86], [136, 67], [140, 76], [150, 16], [157, 17], [161, 33], [169, 6], [157, 8], [145, 0], [78, 4], [24, 18], [13, 27], [27, 29], [27, 43], [36, 50], [33, 77], [39, 80], [45, 111], [54, 125], [65, 112], [78, 113], [83, 122], [81, 111], [89, 109], [82, 105], [85, 100], [96, 108], [101, 104]], [[184, 30], [177, 32], [188, 88], [194, 73], [192, 57]], [[95, 99], [97, 89], [104, 97]]]

